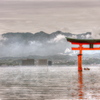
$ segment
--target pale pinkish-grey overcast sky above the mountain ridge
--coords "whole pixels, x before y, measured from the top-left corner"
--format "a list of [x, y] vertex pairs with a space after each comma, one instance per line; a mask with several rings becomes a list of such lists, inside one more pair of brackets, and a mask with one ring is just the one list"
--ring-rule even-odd
[[100, 0], [0, 0], [0, 34], [57, 30], [100, 30]]

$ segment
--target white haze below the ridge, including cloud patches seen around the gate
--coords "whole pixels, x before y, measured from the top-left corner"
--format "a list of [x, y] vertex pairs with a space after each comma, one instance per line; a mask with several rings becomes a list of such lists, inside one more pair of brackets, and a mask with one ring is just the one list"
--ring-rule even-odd
[[[14, 34], [14, 33], [13, 33]], [[24, 33], [23, 33], [24, 34]], [[82, 35], [84, 37], [84, 35]], [[97, 36], [92, 34], [93, 38], [98, 38]], [[91, 35], [87, 34], [86, 38], [90, 38]], [[39, 36], [39, 38], [41, 38]], [[76, 38], [75, 35], [72, 35], [71, 38]], [[66, 41], [66, 36], [59, 34], [52, 38], [51, 40], [45, 40], [44, 42], [41, 40], [28, 40], [27, 43], [23, 37], [13, 37], [10, 38], [8, 42], [7, 38], [3, 38], [0, 36], [0, 57], [28, 57], [32, 55], [39, 55], [39, 56], [48, 56], [48, 55], [77, 55], [77, 51], [72, 51], [71, 43]], [[77, 46], [75, 46], [77, 47]], [[99, 53], [99, 51], [84, 51], [85, 54], [93, 54]]]

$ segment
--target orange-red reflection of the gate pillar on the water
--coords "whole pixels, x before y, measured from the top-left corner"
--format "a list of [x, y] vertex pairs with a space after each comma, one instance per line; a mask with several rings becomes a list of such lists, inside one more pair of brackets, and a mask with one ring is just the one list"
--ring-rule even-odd
[[79, 99], [83, 99], [83, 73], [78, 72]]

